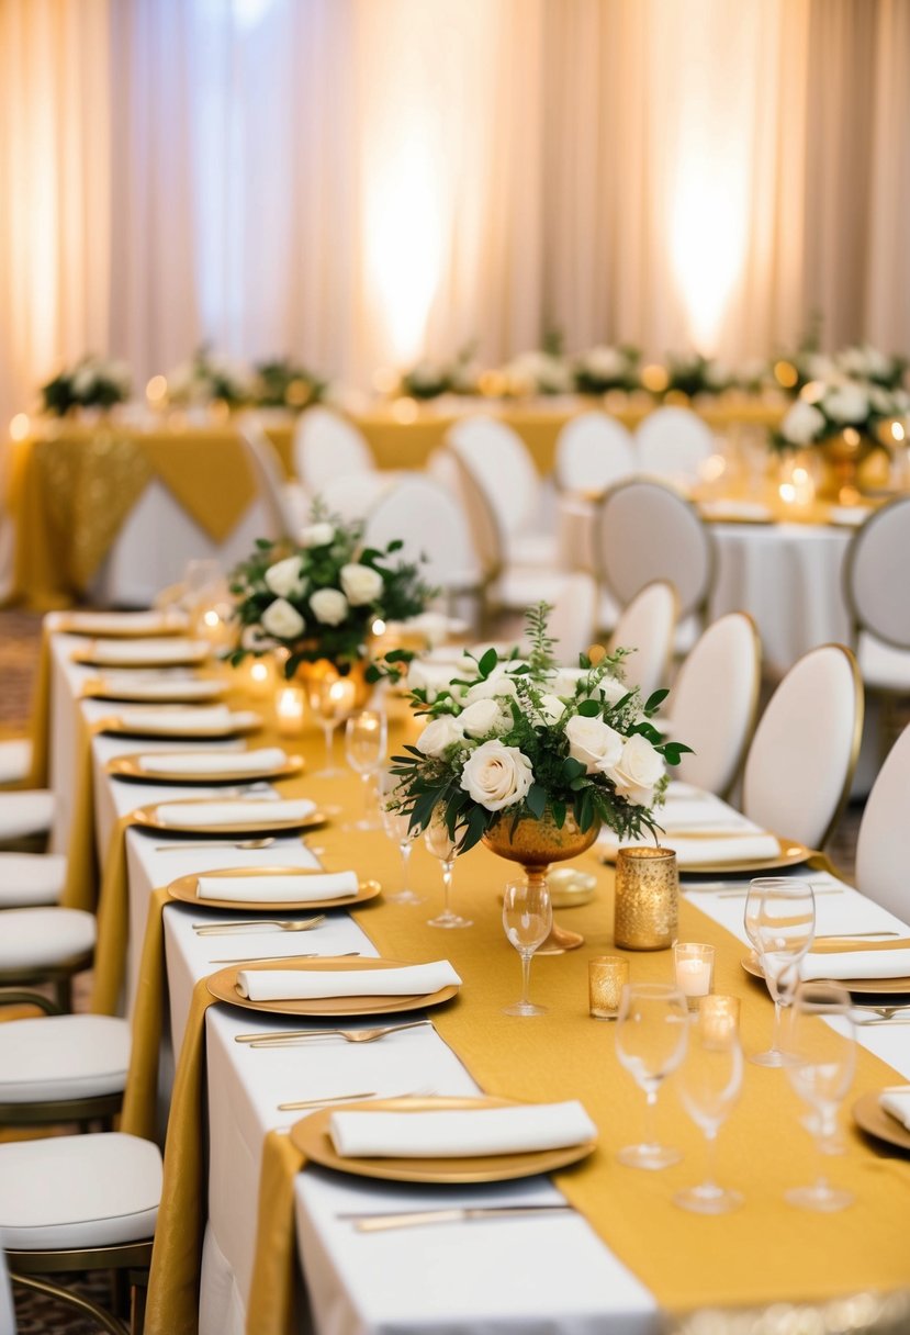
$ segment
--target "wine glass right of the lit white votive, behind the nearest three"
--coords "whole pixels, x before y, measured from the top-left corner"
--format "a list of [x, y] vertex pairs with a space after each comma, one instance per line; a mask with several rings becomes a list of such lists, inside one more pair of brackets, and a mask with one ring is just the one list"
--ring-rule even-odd
[[749, 1060], [758, 1067], [785, 1067], [790, 1057], [781, 1047], [782, 1008], [790, 1004], [799, 983], [799, 961], [815, 936], [815, 894], [810, 882], [781, 876], [754, 880], [746, 896], [745, 926], [774, 1001], [771, 1047], [751, 1053]]

